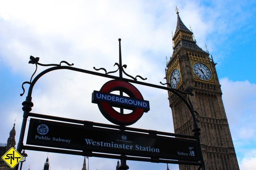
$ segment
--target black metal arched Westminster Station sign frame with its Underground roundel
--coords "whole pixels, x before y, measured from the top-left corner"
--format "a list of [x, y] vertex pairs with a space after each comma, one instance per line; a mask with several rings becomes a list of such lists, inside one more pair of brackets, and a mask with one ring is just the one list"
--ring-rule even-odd
[[[52, 67], [42, 71], [41, 73], [36, 75], [34, 79], [32, 79], [36, 73], [35, 70], [30, 81], [26, 81], [22, 84], [23, 93], [21, 94], [21, 96], [25, 93], [23, 85], [29, 84], [30, 86], [28, 89], [28, 95], [26, 97], [26, 100], [22, 103], [22, 110], [24, 111], [24, 113], [17, 150], [21, 152], [22, 149], [28, 149], [121, 159], [121, 165], [118, 168], [119, 170], [129, 169], [129, 167], [126, 165], [126, 160], [198, 165], [198, 169], [201, 168], [204, 170], [205, 165], [203, 161], [199, 137], [201, 129], [198, 128], [196, 119], [196, 115], [198, 116], [198, 114], [196, 111], [193, 110], [193, 106], [189, 100], [189, 95], [193, 95], [192, 92], [180, 92], [176, 89], [170, 88], [170, 84], [168, 83], [163, 84], [160, 82], [162, 85], [168, 85], [168, 87], [165, 87], [141, 82], [137, 80], [137, 77], [142, 80], [146, 80], [146, 78], [142, 78], [139, 75], [133, 77], [127, 74], [124, 71], [124, 68], [126, 68], [127, 66], [122, 65], [121, 39], [119, 39], [118, 41], [119, 64], [115, 63], [115, 65], [118, 66], [118, 69], [115, 71], [107, 72], [105, 68], [96, 69], [95, 67], [93, 67], [97, 71], [104, 70], [105, 74], [72, 67], [72, 65], [74, 64], [69, 64], [66, 61], [61, 61], [60, 64], [41, 64], [38, 62], [38, 57], [35, 58], [33, 56], [30, 56], [29, 63], [35, 64], [36, 70], [38, 65]], [[67, 64], [67, 66], [62, 65], [62, 63]], [[98, 104], [101, 111], [103, 110], [103, 112], [106, 112], [105, 115], [103, 113], [102, 114], [110, 122], [119, 126], [31, 113], [30, 111], [33, 107], [32, 90], [35, 83], [44, 74], [59, 69], [68, 69], [114, 79], [107, 82], [107, 85], [103, 86], [100, 91], [94, 92], [93, 97], [95, 100], [93, 99], [93, 101], [94, 103]], [[118, 70], [119, 77], [110, 75], [110, 73], [115, 73]], [[131, 79], [123, 78], [123, 73]], [[192, 116], [192, 131], [194, 133], [194, 136], [125, 127], [127, 125], [135, 123], [138, 119], [140, 119], [143, 112], [147, 112], [149, 110], [148, 101], [145, 101], [142, 95], [136, 89], [136, 87], [134, 87], [130, 83], [167, 90], [177, 95], [188, 107], [189, 112]], [[120, 91], [120, 95], [111, 95], [111, 91]], [[129, 97], [124, 97], [123, 92], [128, 94]], [[181, 94], [186, 94], [187, 100], [183, 98]], [[120, 107], [120, 113], [116, 113], [116, 111], [113, 111], [112, 106]], [[132, 110], [132, 114], [124, 114], [124, 108]], [[40, 119], [31, 119], [27, 137], [27, 144], [35, 146], [28, 146], [23, 144], [28, 117], [55, 120], [55, 122], [53, 122]], [[67, 123], [59, 123], [56, 121], [62, 121]], [[67, 134], [63, 135], [60, 132], [60, 128], [65, 127], [68, 128], [66, 129]], [[80, 133], [83, 135], [81, 135], [80, 137], [74, 136], [71, 133], [72, 130], [80, 131]], [[95, 133], [100, 134], [101, 137], [96, 136]], [[148, 143], [148, 141], [151, 141], [151, 143]], [[18, 166], [16, 166], [16, 170], [18, 170]]]

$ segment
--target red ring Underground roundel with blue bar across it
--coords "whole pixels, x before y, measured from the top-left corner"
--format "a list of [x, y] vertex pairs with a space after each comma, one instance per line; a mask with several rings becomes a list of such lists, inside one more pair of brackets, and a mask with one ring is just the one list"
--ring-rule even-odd
[[[111, 92], [117, 91], [119, 95]], [[129, 97], [122, 94], [127, 94]], [[93, 91], [92, 103], [97, 103], [102, 115], [116, 125], [132, 125], [144, 112], [149, 111], [149, 101], [143, 99], [139, 90], [132, 84], [111, 80], [105, 83], [100, 91]], [[115, 108], [120, 108], [120, 112]], [[121, 110], [128, 109], [131, 113], [123, 114]]]

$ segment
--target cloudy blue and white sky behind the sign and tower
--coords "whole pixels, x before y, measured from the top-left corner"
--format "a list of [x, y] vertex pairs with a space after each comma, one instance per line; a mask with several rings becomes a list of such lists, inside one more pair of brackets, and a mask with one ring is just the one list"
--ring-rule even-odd
[[[256, 167], [256, 3], [254, 1], [1, 1], [0, 2], [0, 142], [16, 119], [18, 141], [23, 97], [21, 85], [35, 66], [66, 60], [74, 67], [113, 67], [122, 39], [123, 64], [146, 82], [164, 81], [165, 56], [172, 55], [171, 32], [177, 15], [191, 26], [197, 44], [205, 44], [217, 63], [223, 102], [241, 170]], [[38, 72], [43, 67], [39, 67]], [[91, 93], [109, 79], [56, 71], [40, 79], [32, 94], [32, 112], [100, 123], [109, 122], [91, 103]], [[97, 83], [95, 83], [97, 82]], [[131, 127], [173, 132], [167, 93], [136, 86], [151, 110]], [[25, 85], [27, 90], [28, 86]], [[158, 113], [161, 113], [159, 116]], [[25, 140], [24, 140], [25, 142]], [[24, 169], [42, 169], [47, 153], [27, 151]], [[83, 157], [49, 153], [52, 169], [79, 169]], [[90, 158], [90, 169], [114, 169], [117, 160]], [[35, 163], [36, 162], [36, 163]], [[61, 162], [61, 163], [60, 163]], [[130, 169], [166, 169], [166, 164], [127, 161]], [[177, 165], [169, 165], [178, 169]]]

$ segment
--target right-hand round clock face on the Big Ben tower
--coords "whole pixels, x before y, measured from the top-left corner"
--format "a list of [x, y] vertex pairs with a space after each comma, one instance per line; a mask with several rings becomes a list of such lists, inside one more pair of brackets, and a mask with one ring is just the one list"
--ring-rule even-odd
[[210, 69], [203, 63], [197, 62], [193, 65], [196, 76], [202, 80], [210, 80], [212, 73]]

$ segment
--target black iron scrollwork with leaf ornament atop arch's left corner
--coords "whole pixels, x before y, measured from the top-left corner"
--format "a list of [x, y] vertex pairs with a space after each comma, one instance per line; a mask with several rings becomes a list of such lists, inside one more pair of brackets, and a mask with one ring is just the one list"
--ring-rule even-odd
[[32, 74], [31, 78], [30, 78], [30, 81], [25, 81], [22, 83], [22, 90], [23, 90], [23, 93], [20, 94], [20, 96], [23, 96], [24, 93], [25, 93], [25, 88], [24, 88], [24, 84], [31, 84], [32, 82], [32, 78], [33, 76], [36, 74], [36, 71], [37, 71], [37, 65], [41, 65], [41, 66], [61, 66], [62, 63], [65, 63], [67, 64], [68, 66], [71, 66], [71, 65], [74, 65], [73, 63], [72, 64], [69, 64], [67, 61], [61, 61], [59, 64], [41, 64], [39, 63], [39, 57], [33, 57], [32, 55], [30, 55], [30, 58], [29, 58], [29, 64], [35, 64], [36, 65], [36, 69], [34, 71], [34, 73]]

